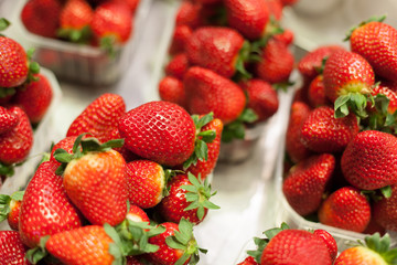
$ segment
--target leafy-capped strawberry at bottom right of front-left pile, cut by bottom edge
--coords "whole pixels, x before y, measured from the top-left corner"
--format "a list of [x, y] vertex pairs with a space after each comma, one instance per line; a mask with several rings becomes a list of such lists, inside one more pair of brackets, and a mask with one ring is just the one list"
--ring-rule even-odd
[[198, 251], [205, 252], [197, 246], [193, 236], [193, 224], [182, 219], [179, 224], [172, 222], [161, 223], [165, 231], [149, 239], [149, 243], [158, 245], [159, 250], [148, 255], [154, 264], [197, 264]]

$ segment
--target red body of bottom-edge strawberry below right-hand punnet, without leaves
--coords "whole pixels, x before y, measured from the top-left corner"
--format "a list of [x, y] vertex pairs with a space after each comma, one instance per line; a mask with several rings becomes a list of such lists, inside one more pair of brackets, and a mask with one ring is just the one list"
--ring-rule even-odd
[[303, 230], [283, 230], [265, 247], [261, 265], [331, 265], [331, 257], [321, 239]]

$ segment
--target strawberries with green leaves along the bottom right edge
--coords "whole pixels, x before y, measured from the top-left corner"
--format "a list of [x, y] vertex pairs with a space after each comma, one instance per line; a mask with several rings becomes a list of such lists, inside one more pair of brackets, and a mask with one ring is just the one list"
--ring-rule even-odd
[[[265, 239], [254, 237], [255, 251], [237, 265], [363, 265], [394, 264], [397, 255], [389, 248], [390, 237], [378, 233], [366, 236], [365, 242], [351, 242], [339, 254], [334, 237], [325, 230], [294, 230], [286, 223], [264, 232]], [[337, 255], [339, 254], [339, 255]]]

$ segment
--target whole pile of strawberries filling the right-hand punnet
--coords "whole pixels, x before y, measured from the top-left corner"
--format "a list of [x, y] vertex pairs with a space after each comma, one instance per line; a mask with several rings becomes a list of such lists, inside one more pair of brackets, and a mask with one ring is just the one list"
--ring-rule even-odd
[[397, 30], [383, 19], [353, 28], [350, 51], [302, 57], [286, 138], [292, 209], [360, 233], [397, 231]]

